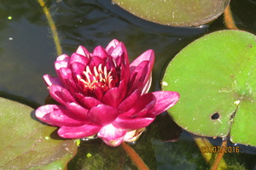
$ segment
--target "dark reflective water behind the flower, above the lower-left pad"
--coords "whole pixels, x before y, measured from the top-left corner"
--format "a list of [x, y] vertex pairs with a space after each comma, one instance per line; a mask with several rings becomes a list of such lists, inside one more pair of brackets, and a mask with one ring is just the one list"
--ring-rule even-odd
[[[171, 60], [177, 49], [191, 41], [191, 36], [179, 35], [178, 32], [173, 35], [173, 31], [162, 33], [144, 30], [113, 14], [102, 6], [102, 2], [46, 3], [59, 31], [63, 52], [72, 54], [80, 44], [89, 50], [97, 45], [105, 47], [113, 38], [125, 42], [131, 60], [148, 48], [153, 48], [156, 54], [154, 80], [157, 80], [153, 83], [157, 86], [153, 88], [159, 88], [163, 63]], [[0, 91], [20, 95], [43, 105], [47, 89], [42, 76], [55, 75], [53, 64], [56, 52], [42, 8], [34, 1], [24, 3], [21, 0], [1, 2], [0, 8], [0, 76], [3, 77]], [[203, 32], [197, 31], [196, 35]], [[195, 33], [192, 37], [195, 37]]]

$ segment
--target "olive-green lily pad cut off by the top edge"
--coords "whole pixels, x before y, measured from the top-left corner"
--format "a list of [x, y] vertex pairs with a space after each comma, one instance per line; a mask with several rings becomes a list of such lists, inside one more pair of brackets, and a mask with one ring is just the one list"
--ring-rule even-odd
[[167, 26], [201, 26], [224, 12], [230, 0], [113, 0], [144, 20]]

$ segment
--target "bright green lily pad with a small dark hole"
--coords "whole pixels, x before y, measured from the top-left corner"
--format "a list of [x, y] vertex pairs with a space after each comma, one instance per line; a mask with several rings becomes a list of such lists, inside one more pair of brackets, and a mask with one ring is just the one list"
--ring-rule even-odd
[[247, 31], [216, 31], [175, 56], [163, 90], [181, 99], [169, 113], [191, 133], [256, 145], [256, 37]]

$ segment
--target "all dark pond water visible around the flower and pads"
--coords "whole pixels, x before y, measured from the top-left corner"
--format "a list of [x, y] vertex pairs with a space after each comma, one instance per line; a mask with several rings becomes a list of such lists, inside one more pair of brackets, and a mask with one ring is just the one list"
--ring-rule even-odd
[[[47, 6], [55, 20], [64, 54], [72, 54], [79, 45], [90, 51], [98, 45], [106, 47], [113, 38], [125, 43], [131, 60], [149, 48], [154, 49], [152, 91], [160, 90], [166, 65], [189, 42], [225, 29], [222, 15], [206, 26], [160, 26], [140, 20], [107, 0], [47, 1]], [[231, 1], [230, 8], [236, 26], [255, 34], [256, 2]], [[42, 77], [55, 75], [53, 64], [57, 54], [42, 8], [33, 0], [5, 0], [0, 2], [0, 17], [0, 96], [34, 108], [44, 105], [48, 90]], [[210, 140], [212, 144], [221, 143], [221, 139]], [[192, 134], [177, 127], [166, 114], [159, 116], [132, 146], [150, 169], [208, 168]], [[234, 169], [256, 169], [255, 147], [239, 146], [240, 153], [225, 154], [225, 161]], [[93, 159], [89, 159], [88, 153]], [[99, 139], [83, 141], [68, 167], [137, 169], [120, 147], [111, 148]]]

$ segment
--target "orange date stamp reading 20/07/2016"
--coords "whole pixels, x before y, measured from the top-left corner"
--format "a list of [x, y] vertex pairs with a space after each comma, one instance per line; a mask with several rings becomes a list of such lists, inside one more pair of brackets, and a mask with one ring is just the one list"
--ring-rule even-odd
[[239, 146], [201, 146], [201, 153], [239, 153]]

